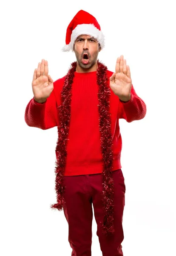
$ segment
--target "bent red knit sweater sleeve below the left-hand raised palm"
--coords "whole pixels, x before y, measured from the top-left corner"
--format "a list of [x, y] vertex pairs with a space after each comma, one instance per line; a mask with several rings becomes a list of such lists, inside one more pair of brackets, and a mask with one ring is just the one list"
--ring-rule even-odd
[[25, 122], [28, 126], [47, 130], [59, 125], [57, 101], [54, 90], [44, 103], [33, 99], [28, 102], [25, 110]]

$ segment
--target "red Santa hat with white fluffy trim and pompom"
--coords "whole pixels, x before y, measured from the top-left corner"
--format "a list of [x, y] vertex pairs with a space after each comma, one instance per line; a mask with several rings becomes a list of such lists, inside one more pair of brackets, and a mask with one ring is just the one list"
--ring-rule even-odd
[[79, 35], [93, 36], [99, 42], [101, 49], [105, 46], [105, 37], [96, 18], [83, 10], [80, 10], [68, 25], [65, 46], [62, 51], [69, 52], [72, 50], [73, 52], [74, 42]]

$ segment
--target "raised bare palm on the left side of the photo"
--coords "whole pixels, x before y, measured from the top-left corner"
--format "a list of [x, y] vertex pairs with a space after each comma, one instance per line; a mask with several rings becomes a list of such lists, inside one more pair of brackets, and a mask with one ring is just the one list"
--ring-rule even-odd
[[32, 80], [32, 91], [35, 101], [39, 103], [45, 102], [53, 88], [53, 79], [48, 75], [48, 61], [43, 59], [42, 62], [39, 62], [37, 69], [34, 70]]

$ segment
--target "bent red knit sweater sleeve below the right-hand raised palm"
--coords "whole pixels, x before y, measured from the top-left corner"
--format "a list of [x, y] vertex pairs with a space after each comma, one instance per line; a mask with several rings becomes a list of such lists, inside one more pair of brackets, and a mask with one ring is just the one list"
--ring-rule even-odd
[[122, 102], [119, 99], [119, 119], [125, 119], [127, 122], [140, 120], [145, 117], [146, 112], [145, 102], [136, 94], [132, 84], [130, 101]]

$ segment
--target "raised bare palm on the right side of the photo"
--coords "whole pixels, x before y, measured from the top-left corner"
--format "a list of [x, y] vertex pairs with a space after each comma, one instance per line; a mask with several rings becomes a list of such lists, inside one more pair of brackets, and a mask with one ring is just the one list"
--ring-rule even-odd
[[116, 61], [116, 73], [110, 77], [110, 87], [120, 100], [127, 102], [131, 99], [131, 86], [130, 67], [126, 65], [126, 60], [121, 55]]

